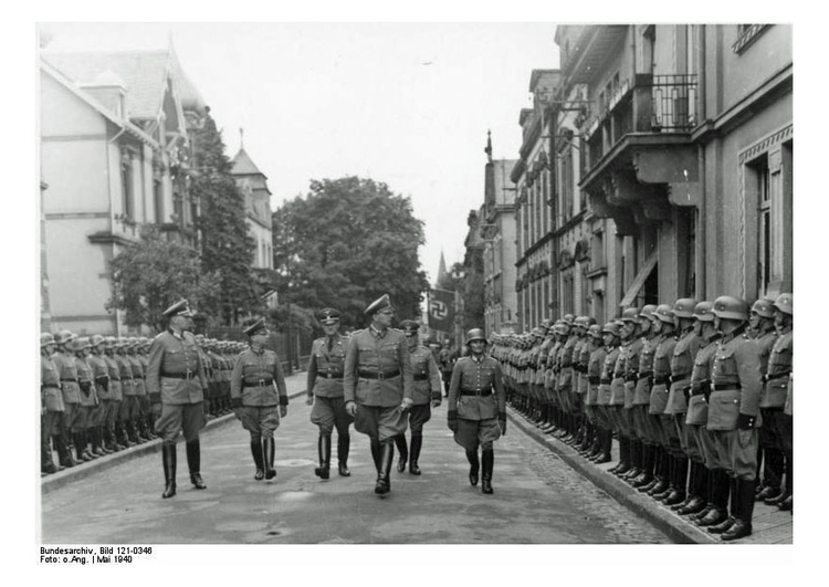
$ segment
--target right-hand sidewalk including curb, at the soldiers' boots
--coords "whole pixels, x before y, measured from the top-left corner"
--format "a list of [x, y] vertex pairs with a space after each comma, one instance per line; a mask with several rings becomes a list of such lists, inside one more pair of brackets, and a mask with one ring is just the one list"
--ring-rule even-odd
[[[681, 544], [728, 544], [720, 541], [718, 536], [709, 534], [704, 528], [688, 522], [670, 507], [639, 493], [636, 488], [609, 473], [608, 469], [616, 467], [619, 461], [617, 442], [613, 442], [612, 459], [609, 463], [594, 464], [569, 444], [538, 430], [533, 422], [527, 421], [512, 408], [507, 407], [507, 415], [513, 426], [555, 452], [579, 474], [590, 480], [596, 486], [629, 507], [637, 515], [648, 520], [671, 539]], [[790, 512], [781, 512], [777, 507], [766, 505], [763, 502], [755, 502], [752, 526], [753, 533], [751, 536], [735, 541], [733, 544], [793, 544], [793, 515]]]

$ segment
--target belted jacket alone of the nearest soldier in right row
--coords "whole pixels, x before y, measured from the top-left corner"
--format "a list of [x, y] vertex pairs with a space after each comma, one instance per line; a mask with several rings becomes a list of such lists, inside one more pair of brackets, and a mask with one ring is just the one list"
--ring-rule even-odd
[[[770, 363], [770, 358], [769, 358]], [[743, 413], [760, 424], [759, 349], [743, 334], [743, 328], [724, 336], [717, 343], [711, 368], [709, 398], [709, 430], [736, 430], [737, 417]]]

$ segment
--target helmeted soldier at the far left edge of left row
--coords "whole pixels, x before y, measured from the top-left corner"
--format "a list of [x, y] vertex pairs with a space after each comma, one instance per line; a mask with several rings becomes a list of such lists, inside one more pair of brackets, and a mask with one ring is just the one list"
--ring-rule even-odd
[[[61, 394], [61, 376], [52, 361], [55, 344], [50, 333], [40, 335], [40, 471], [42, 474], [56, 473], [64, 467], [73, 467], [74, 460], [69, 453], [61, 428], [63, 427], [63, 395]], [[54, 463], [50, 439], [57, 450], [60, 465]], [[64, 464], [64, 463], [72, 464]]]

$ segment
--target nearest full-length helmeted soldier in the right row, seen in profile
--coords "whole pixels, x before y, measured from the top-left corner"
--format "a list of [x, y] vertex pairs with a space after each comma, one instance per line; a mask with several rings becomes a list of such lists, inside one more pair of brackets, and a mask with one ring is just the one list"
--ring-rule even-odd
[[731, 516], [709, 532], [722, 534], [723, 541], [748, 536], [754, 514], [762, 381], [759, 349], [745, 335], [747, 319], [745, 300], [724, 295], [714, 301], [714, 326], [723, 338], [711, 369], [707, 428], [731, 476]]

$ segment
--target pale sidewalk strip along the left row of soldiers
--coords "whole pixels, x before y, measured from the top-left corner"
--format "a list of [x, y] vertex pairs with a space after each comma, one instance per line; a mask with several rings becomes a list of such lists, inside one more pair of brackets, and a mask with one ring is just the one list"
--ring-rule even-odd
[[[300, 398], [298, 401], [304, 400], [304, 397], [301, 396], [305, 395], [306, 380], [306, 371], [294, 371], [293, 375], [285, 377], [287, 397], [291, 399]], [[224, 416], [219, 416], [218, 418], [208, 420], [206, 428], [210, 429], [233, 421], [235, 421], [235, 416], [233, 413], [225, 413]], [[64, 469], [63, 471], [59, 471], [57, 473], [42, 476], [40, 485], [41, 494], [44, 495], [50, 491], [62, 488], [67, 483], [84, 479], [92, 473], [105, 471], [106, 469], [111, 469], [127, 461], [132, 461], [133, 459], [136, 459], [138, 457], [144, 457], [145, 454], [160, 451], [161, 440], [155, 439], [150, 440], [149, 442], [145, 442], [144, 444], [136, 444], [135, 447], [130, 447], [128, 449], [114, 452], [105, 457], [98, 457], [94, 461], [88, 461], [76, 467], [72, 467], [71, 469]]]

